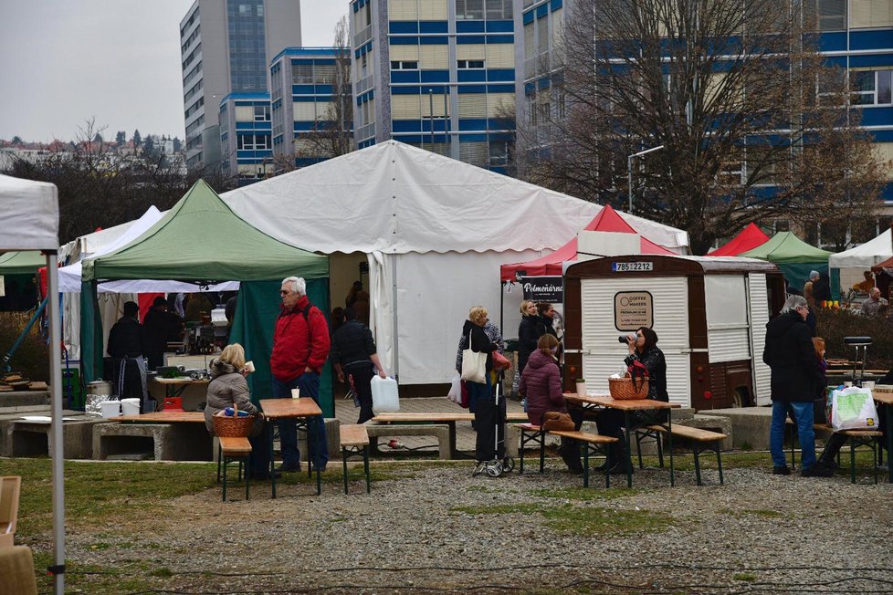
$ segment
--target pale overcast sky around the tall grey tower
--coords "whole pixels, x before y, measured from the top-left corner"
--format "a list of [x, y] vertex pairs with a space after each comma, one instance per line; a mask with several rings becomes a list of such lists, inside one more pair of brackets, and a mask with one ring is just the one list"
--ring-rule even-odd
[[[193, 1], [0, 0], [0, 139], [69, 141], [89, 118], [106, 139], [182, 139], [179, 29]], [[300, 5], [302, 45], [330, 46], [348, 0]]]

